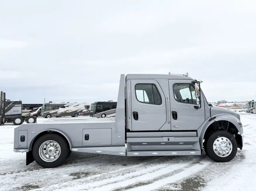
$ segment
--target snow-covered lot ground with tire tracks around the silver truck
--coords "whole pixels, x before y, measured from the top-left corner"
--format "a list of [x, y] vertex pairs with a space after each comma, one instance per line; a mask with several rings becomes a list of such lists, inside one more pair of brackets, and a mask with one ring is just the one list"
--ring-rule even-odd
[[[240, 113], [245, 143], [227, 163], [202, 156], [122, 157], [72, 152], [44, 169], [13, 152], [14, 126], [0, 126], [0, 190], [255, 190], [256, 114]], [[38, 123], [46, 119], [38, 119]]]

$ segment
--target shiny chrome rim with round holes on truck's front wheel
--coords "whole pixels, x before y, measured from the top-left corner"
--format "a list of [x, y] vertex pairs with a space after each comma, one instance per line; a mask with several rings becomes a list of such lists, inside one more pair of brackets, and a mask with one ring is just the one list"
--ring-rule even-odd
[[218, 137], [213, 143], [213, 150], [219, 157], [226, 157], [232, 152], [232, 143], [226, 137]]

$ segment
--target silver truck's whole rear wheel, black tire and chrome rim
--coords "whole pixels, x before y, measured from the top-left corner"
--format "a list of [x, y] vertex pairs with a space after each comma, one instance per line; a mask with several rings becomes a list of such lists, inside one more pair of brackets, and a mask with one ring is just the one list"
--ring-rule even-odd
[[68, 158], [69, 149], [61, 136], [46, 134], [36, 141], [32, 152], [38, 165], [44, 168], [54, 168]]

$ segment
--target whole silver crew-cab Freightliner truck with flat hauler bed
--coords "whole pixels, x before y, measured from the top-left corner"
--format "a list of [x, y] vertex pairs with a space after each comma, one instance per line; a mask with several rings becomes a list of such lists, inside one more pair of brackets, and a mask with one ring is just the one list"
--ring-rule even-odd
[[115, 118], [49, 119], [14, 130], [26, 165], [61, 165], [71, 151], [120, 156], [201, 155], [232, 160], [243, 147], [240, 115], [207, 103], [188, 75], [121, 75]]

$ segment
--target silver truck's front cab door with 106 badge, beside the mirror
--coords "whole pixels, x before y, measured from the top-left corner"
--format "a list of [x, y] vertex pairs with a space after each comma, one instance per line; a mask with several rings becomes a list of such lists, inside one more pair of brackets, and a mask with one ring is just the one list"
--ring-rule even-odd
[[195, 109], [195, 85], [192, 81], [169, 79], [171, 130], [197, 130], [205, 122], [203, 96], [200, 96], [201, 108]]

